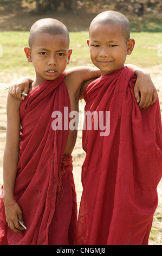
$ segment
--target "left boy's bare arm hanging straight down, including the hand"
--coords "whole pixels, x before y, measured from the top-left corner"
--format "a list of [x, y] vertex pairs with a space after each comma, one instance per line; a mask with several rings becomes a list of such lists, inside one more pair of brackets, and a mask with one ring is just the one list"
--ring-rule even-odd
[[23, 228], [18, 224], [18, 218], [22, 220], [20, 206], [15, 203], [14, 185], [17, 174], [20, 137], [20, 100], [8, 95], [7, 102], [7, 139], [3, 160], [3, 202], [5, 206], [6, 221], [9, 227], [17, 232]]

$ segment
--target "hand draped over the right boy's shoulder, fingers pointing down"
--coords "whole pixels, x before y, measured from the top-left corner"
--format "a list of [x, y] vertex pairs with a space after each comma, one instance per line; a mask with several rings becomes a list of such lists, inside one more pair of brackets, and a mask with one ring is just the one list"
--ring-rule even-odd
[[137, 81], [134, 86], [134, 96], [139, 103], [139, 108], [147, 108], [157, 100], [157, 92], [149, 74], [137, 70]]

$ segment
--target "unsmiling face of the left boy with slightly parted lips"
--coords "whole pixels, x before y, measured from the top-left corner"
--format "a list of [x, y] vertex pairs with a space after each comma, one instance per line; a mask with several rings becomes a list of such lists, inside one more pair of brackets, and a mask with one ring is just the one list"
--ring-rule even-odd
[[66, 35], [40, 33], [35, 36], [31, 48], [25, 47], [29, 62], [33, 62], [38, 83], [55, 80], [66, 69], [72, 50], [68, 50]]

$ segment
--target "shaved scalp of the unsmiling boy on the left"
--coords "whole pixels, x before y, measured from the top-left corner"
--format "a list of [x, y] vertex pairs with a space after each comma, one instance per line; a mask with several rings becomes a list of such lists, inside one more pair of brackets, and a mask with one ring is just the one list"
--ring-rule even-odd
[[36, 21], [33, 26], [31, 26], [29, 34], [29, 47], [31, 48], [34, 44], [34, 39], [37, 34], [51, 34], [51, 35], [66, 35], [69, 43], [69, 32], [67, 27], [58, 20], [47, 18]]

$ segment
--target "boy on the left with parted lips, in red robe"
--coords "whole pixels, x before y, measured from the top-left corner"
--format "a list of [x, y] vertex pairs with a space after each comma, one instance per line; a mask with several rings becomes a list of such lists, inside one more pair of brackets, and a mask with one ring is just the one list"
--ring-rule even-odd
[[[77, 209], [71, 154], [77, 131], [69, 130], [67, 117], [78, 111], [83, 81], [100, 72], [83, 67], [65, 74], [72, 50], [68, 30], [57, 20], [35, 22], [29, 47], [24, 50], [36, 78], [24, 101], [8, 95], [0, 243], [73, 245]], [[54, 127], [55, 113], [67, 118], [63, 129]]]

